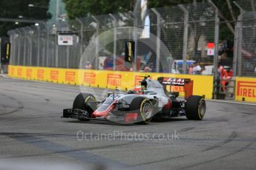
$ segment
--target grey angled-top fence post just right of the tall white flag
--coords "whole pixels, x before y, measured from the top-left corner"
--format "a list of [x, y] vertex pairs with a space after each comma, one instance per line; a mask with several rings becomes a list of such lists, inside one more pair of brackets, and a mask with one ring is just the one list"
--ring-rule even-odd
[[161, 38], [161, 16], [160, 13], [155, 8], [151, 8], [151, 10], [157, 15], [157, 64], [156, 71], [160, 72], [160, 38]]

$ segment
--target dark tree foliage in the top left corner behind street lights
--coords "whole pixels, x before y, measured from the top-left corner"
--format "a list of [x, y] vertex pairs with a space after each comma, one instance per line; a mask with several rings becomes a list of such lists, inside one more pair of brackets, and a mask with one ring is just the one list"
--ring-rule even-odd
[[[1, 0], [0, 1], [0, 18], [19, 18], [23, 19], [43, 20], [50, 18], [50, 13], [47, 13], [50, 0]], [[34, 4], [35, 7], [28, 7], [28, 4]], [[7, 35], [8, 30], [16, 27], [24, 27], [31, 23], [19, 23], [0, 21], [0, 36]]]

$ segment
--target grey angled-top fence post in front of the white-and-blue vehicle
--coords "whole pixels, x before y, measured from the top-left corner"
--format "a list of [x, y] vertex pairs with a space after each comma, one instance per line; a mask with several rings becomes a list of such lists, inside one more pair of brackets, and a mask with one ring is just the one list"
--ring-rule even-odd
[[188, 10], [179, 4], [184, 13], [184, 32], [183, 32], [183, 74], [187, 73], [187, 52], [188, 52]]

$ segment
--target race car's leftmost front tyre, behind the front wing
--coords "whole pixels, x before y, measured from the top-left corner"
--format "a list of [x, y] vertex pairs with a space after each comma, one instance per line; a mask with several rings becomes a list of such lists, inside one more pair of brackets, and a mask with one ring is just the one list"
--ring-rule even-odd
[[[93, 95], [88, 93], [80, 93], [73, 101], [73, 109], [86, 110], [90, 115], [96, 110], [96, 99]], [[88, 119], [79, 119], [88, 120]]]

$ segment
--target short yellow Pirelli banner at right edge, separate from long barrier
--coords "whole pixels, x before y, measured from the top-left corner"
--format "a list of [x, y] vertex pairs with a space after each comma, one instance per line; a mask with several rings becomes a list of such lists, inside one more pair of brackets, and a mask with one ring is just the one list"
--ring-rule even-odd
[[256, 78], [236, 78], [236, 101], [256, 102]]

